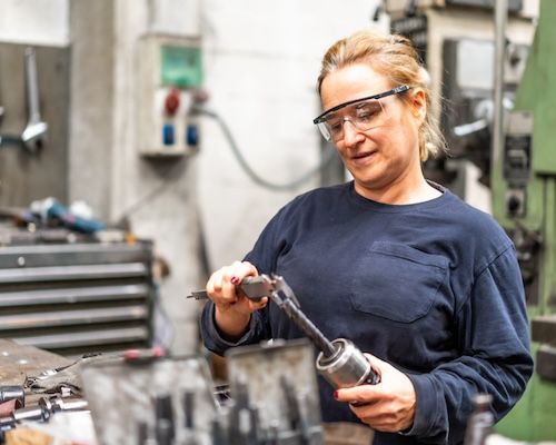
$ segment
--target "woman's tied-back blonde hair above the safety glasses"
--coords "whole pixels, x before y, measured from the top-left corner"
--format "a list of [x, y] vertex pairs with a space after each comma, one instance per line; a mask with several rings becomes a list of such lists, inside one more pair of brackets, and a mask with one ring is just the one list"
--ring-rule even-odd
[[[439, 130], [438, 121], [430, 110], [429, 77], [419, 63], [419, 58], [411, 42], [398, 34], [381, 34], [370, 30], [358, 31], [334, 43], [321, 61], [317, 90], [325, 78], [332, 71], [349, 65], [369, 63], [374, 71], [386, 76], [394, 86], [407, 85], [421, 88], [425, 92], [427, 113], [419, 128], [419, 156], [425, 161], [429, 156], [445, 151], [446, 142]], [[403, 100], [408, 100], [403, 95]]]

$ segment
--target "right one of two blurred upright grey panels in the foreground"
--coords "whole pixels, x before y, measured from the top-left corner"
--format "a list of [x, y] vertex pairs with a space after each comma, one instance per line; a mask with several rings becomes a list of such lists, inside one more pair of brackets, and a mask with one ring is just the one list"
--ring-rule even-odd
[[[225, 445], [321, 445], [312, 346], [306, 339], [230, 349]], [[240, 421], [242, 419], [242, 421]]]

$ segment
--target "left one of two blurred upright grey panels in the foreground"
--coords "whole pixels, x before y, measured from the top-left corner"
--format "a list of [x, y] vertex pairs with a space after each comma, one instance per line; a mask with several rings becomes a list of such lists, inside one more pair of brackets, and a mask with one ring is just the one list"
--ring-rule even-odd
[[81, 376], [100, 445], [210, 444], [220, 412], [203, 357], [138, 350], [86, 364]]

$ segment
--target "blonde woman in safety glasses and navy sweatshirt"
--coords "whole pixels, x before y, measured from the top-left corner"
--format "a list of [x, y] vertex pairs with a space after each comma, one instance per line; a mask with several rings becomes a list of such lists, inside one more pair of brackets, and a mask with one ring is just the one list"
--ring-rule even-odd
[[236, 293], [246, 276], [277, 273], [315, 325], [351, 339], [381, 377], [337, 392], [319, 382], [324, 422], [363, 422], [375, 444], [460, 443], [475, 394], [493, 395], [499, 419], [532, 374], [512, 241], [425, 179], [421, 161], [443, 144], [407, 39], [360, 31], [339, 40], [322, 59], [318, 92], [325, 112], [315, 123], [354, 180], [297, 197], [244, 261], [212, 274], [205, 344], [222, 354], [301, 336], [266, 299]]

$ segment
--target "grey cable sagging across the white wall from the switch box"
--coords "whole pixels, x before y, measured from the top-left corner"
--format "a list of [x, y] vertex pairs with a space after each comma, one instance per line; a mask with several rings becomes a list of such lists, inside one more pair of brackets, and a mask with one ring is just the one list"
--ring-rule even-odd
[[192, 110], [193, 110], [193, 112], [205, 115], [205, 116], [208, 116], [208, 117], [215, 119], [218, 122], [218, 125], [220, 126], [220, 129], [222, 130], [226, 139], [228, 140], [228, 144], [230, 145], [230, 148], [231, 148], [234, 156], [236, 157], [236, 159], [238, 160], [239, 165], [245, 170], [247, 176], [249, 176], [249, 178], [251, 178], [251, 180], [254, 180], [259, 186], [262, 186], [262, 187], [268, 188], [268, 189], [274, 190], [274, 191], [291, 190], [291, 189], [295, 189], [297, 186], [308, 181], [316, 174], [318, 174], [324, 167], [326, 167], [328, 165], [328, 162], [330, 162], [330, 160], [332, 159], [334, 155], [336, 154], [336, 150], [334, 150], [330, 146], [328, 146], [328, 152], [320, 160], [320, 162], [316, 167], [309, 169], [307, 172], [301, 175], [299, 178], [292, 180], [291, 182], [286, 182], [286, 184], [271, 182], [271, 181], [266, 180], [265, 178], [261, 178], [249, 166], [246, 158], [244, 157], [244, 155], [239, 150], [239, 148], [236, 144], [236, 140], [234, 139], [234, 135], [231, 134], [230, 129], [228, 128], [228, 126], [226, 125], [224, 119], [220, 117], [220, 115], [218, 115], [216, 111], [207, 110], [206, 108], [199, 107], [197, 105], [193, 106]]

